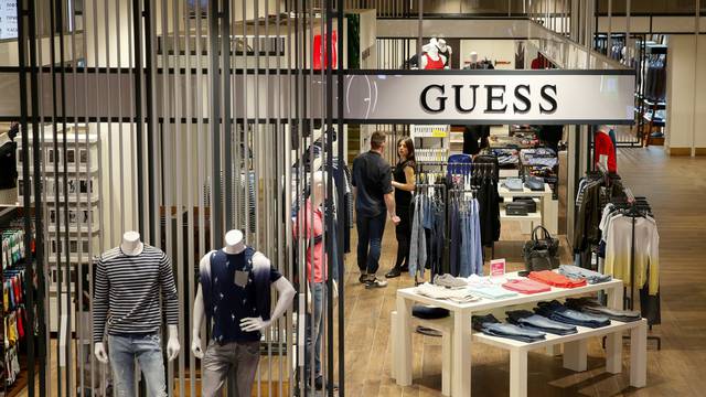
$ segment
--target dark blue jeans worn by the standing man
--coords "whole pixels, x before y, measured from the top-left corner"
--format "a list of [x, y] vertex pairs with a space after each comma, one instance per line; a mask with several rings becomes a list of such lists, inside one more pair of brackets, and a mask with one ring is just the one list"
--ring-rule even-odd
[[[355, 218], [357, 226], [357, 267], [362, 273], [375, 275], [379, 268], [383, 233], [385, 232], [387, 213], [367, 217], [360, 214]], [[370, 251], [368, 249], [370, 245]]]

